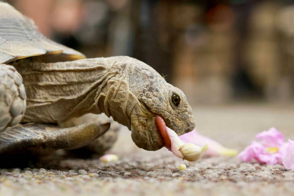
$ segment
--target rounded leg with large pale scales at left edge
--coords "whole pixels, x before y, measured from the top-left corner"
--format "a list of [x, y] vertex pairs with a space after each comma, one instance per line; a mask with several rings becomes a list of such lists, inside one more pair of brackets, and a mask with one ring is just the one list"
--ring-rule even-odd
[[13, 66], [0, 64], [0, 131], [19, 123], [25, 111], [22, 77]]

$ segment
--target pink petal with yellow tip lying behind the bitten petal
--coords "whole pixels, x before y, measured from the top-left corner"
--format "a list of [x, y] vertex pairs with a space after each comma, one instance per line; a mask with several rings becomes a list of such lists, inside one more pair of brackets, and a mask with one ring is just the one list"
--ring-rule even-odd
[[236, 150], [225, 148], [220, 143], [208, 137], [200, 135], [199, 133], [197, 133], [196, 129], [186, 134], [183, 134], [179, 137], [184, 142], [193, 143], [197, 146], [204, 146], [205, 144], [207, 144], [209, 148], [204, 154], [208, 156], [219, 156], [219, 155], [235, 156], [238, 154]]

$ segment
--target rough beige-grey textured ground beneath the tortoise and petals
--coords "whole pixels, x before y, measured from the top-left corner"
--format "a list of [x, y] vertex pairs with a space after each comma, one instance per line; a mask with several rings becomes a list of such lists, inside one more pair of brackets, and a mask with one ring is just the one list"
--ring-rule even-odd
[[[200, 133], [238, 150], [271, 126], [294, 139], [294, 106], [203, 106], [194, 108], [194, 116]], [[126, 130], [111, 152], [119, 161], [58, 155], [22, 166], [18, 157], [21, 169], [0, 169], [0, 195], [294, 195], [294, 172], [281, 165], [226, 157], [182, 161], [166, 149], [138, 149]], [[178, 170], [182, 163], [186, 170]]]

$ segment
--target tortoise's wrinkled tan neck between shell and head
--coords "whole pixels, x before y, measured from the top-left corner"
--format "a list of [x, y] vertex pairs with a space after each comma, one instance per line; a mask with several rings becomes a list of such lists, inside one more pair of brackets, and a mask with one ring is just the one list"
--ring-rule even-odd
[[[23, 122], [61, 123], [85, 113], [106, 113], [129, 121], [121, 89], [128, 88], [124, 59], [95, 58], [71, 62], [14, 64], [26, 87], [27, 109]], [[126, 92], [126, 91], [125, 91]], [[128, 125], [127, 123], [122, 123]]]

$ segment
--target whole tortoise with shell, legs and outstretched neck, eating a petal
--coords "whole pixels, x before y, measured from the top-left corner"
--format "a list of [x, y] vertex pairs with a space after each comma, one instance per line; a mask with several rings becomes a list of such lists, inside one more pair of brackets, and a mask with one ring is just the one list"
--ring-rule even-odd
[[[99, 125], [100, 117], [71, 122], [88, 113], [112, 117], [131, 130], [138, 147], [152, 151], [165, 145], [156, 115], [178, 135], [193, 130], [184, 93], [144, 62], [128, 56], [87, 59], [46, 38], [3, 2], [0, 24], [1, 154], [86, 147], [104, 153], [119, 126]], [[113, 136], [103, 137], [106, 132]]]

